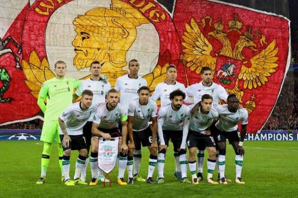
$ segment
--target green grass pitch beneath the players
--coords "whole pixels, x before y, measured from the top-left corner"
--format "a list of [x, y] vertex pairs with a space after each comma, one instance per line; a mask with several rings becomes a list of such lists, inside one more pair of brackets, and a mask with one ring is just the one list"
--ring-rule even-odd
[[[67, 187], [61, 182], [58, 164], [57, 144], [52, 149], [50, 165], [47, 172], [46, 184], [36, 185], [40, 176], [41, 152], [40, 141], [0, 141], [0, 197], [270, 197], [295, 198], [298, 197], [298, 144], [296, 141], [246, 141], [244, 142], [245, 156], [242, 169], [242, 178], [245, 185], [234, 183], [235, 163], [231, 146], [227, 146], [226, 176], [232, 180], [228, 185], [211, 185], [199, 182], [199, 185], [182, 184], [173, 176], [175, 163], [172, 146], [168, 148], [165, 159], [165, 184], [150, 185], [135, 182], [131, 186], [117, 184], [117, 167], [110, 174], [112, 187], [74, 186]], [[72, 152], [71, 177], [74, 175], [77, 151]], [[205, 152], [204, 178], [207, 175], [208, 154]], [[147, 177], [149, 152], [143, 148], [143, 159], [140, 174]], [[90, 181], [90, 167], [87, 168], [87, 182]], [[154, 171], [154, 180], [157, 168]], [[188, 178], [191, 179], [188, 170]], [[214, 178], [217, 178], [215, 171]], [[125, 173], [127, 180], [127, 173]]]

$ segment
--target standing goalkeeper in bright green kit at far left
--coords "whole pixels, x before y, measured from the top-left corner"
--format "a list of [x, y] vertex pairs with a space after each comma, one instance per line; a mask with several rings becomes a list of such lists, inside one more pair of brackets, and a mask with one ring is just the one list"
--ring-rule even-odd
[[[55, 63], [56, 77], [45, 81], [39, 92], [37, 104], [44, 112], [44, 124], [42, 127], [40, 140], [44, 142], [44, 148], [41, 155], [41, 176], [36, 184], [46, 182], [46, 173], [49, 165], [50, 154], [54, 139], [58, 143], [59, 165], [64, 181], [62, 157], [63, 149], [59, 137], [58, 118], [60, 114], [73, 103], [73, 91], [77, 88], [79, 81], [72, 78], [65, 78], [66, 63], [57, 61]], [[46, 104], [44, 103], [46, 99]]]

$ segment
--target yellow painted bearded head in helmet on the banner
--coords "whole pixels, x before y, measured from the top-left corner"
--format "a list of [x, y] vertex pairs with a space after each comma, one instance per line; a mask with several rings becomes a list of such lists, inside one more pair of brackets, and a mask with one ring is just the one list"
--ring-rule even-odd
[[137, 36], [136, 26], [117, 11], [95, 8], [74, 19], [73, 45], [78, 70], [89, 67], [93, 60], [105, 64], [102, 72], [121, 71], [127, 65], [126, 53]]

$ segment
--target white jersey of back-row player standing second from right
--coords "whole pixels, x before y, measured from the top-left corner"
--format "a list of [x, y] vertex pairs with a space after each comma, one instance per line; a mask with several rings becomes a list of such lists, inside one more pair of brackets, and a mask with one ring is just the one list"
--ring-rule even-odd
[[151, 99], [157, 100], [160, 98], [161, 106], [166, 106], [171, 103], [170, 93], [175, 90], [181, 90], [185, 93], [187, 99], [187, 94], [185, 87], [182, 83], [175, 82], [174, 85], [167, 84], [165, 82], [157, 84], [154, 94], [151, 96]]

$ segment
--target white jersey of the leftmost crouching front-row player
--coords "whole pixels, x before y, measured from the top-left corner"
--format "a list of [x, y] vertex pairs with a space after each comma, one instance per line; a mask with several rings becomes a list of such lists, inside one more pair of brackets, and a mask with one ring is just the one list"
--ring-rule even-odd
[[[60, 115], [69, 135], [83, 134], [83, 126], [87, 123], [90, 115], [95, 111], [95, 104], [92, 104], [89, 108], [83, 110], [80, 107], [80, 103], [80, 101], [73, 103]], [[61, 128], [60, 134], [63, 134]]]

